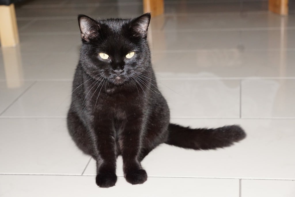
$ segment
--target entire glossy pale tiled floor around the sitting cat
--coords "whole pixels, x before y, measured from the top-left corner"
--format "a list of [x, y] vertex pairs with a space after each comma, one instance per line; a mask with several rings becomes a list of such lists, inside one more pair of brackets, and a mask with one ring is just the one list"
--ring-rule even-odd
[[130, 185], [98, 188], [95, 164], [69, 137], [65, 116], [78, 61], [77, 14], [135, 17], [141, 0], [30, 0], [17, 5], [21, 44], [0, 51], [0, 196], [295, 196], [295, 6], [267, 1], [165, 0], [149, 40], [171, 122], [239, 124], [235, 146], [161, 145]]

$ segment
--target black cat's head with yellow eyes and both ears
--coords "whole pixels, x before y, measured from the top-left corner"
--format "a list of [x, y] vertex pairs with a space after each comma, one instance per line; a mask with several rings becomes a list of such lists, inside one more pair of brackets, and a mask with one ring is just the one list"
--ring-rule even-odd
[[80, 63], [94, 79], [122, 85], [150, 67], [149, 13], [135, 19], [106, 20], [79, 15], [78, 21], [82, 38]]

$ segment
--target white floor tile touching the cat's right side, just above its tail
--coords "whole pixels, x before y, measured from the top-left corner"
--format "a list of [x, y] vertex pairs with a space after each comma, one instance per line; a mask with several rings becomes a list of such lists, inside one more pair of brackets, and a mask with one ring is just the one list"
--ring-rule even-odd
[[158, 84], [171, 117], [240, 116], [239, 80], [159, 80]]

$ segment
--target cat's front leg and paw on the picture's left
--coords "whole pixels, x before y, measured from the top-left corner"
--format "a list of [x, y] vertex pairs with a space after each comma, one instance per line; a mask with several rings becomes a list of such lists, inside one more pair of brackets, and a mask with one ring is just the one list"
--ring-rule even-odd
[[108, 120], [100, 121], [94, 128], [96, 136], [96, 184], [109, 188], [117, 182], [116, 141], [113, 125]]

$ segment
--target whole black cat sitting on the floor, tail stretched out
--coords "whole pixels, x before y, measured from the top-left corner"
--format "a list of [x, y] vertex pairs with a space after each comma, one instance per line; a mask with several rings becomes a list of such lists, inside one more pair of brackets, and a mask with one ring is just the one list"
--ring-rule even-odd
[[68, 130], [76, 145], [96, 160], [99, 187], [115, 185], [118, 155], [127, 182], [141, 184], [147, 173], [140, 162], [160, 143], [198, 150], [245, 138], [236, 125], [191, 129], [169, 123], [169, 108], [151, 65], [150, 14], [98, 21], [79, 15], [78, 21], [82, 45]]

